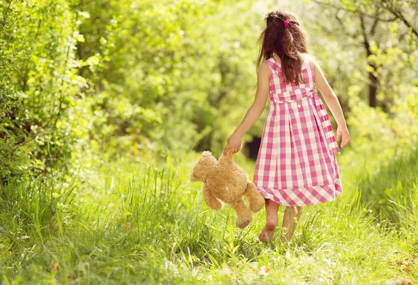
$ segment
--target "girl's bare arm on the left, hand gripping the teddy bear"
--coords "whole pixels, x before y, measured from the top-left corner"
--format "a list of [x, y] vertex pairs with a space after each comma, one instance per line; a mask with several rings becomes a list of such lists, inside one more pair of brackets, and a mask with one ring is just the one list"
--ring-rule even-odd
[[270, 68], [266, 63], [263, 63], [258, 69], [257, 74], [257, 91], [256, 97], [251, 107], [249, 107], [247, 114], [245, 114], [240, 125], [231, 134], [228, 143], [224, 149], [224, 155], [229, 151], [236, 153], [240, 151], [242, 144], [242, 137], [248, 130], [256, 123], [261, 114], [263, 114], [265, 103], [267, 102], [268, 93], [270, 91]]

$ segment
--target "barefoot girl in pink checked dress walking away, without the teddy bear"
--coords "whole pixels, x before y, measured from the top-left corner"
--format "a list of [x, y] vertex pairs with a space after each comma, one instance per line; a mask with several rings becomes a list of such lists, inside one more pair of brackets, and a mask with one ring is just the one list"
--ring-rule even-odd
[[[308, 53], [297, 17], [286, 10], [268, 14], [258, 56], [257, 91], [253, 104], [224, 149], [236, 153], [243, 135], [270, 105], [258, 151], [254, 183], [265, 198], [267, 219], [259, 239], [269, 242], [284, 209], [281, 241], [289, 241], [302, 206], [334, 201], [343, 192], [336, 162], [350, 141], [338, 98], [317, 61]], [[263, 61], [263, 62], [262, 62]], [[337, 123], [332, 125], [314, 84]]]

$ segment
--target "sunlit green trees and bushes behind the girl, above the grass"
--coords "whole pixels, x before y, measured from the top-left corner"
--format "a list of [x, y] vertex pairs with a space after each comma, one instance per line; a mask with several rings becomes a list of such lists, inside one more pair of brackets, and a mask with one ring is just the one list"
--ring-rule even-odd
[[[311, 50], [339, 95], [354, 146], [368, 143], [362, 118], [374, 113], [386, 118], [378, 132], [396, 132], [390, 143], [417, 134], [413, 123], [403, 130], [416, 117], [413, 8], [373, 3], [288, 6], [306, 16], [311, 38], [322, 39], [311, 40]], [[216, 153], [254, 98], [261, 3], [3, 1], [1, 8], [2, 176], [50, 173], [55, 164], [73, 174], [71, 163], [100, 161], [104, 149], [134, 160], [168, 149]], [[376, 111], [363, 103], [371, 76]], [[245, 141], [261, 135], [264, 116]]]

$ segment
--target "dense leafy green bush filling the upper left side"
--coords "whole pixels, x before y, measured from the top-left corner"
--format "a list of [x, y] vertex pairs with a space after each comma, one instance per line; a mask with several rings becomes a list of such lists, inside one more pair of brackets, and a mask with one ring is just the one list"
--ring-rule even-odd
[[[75, 58], [79, 15], [67, 1], [3, 1], [0, 174], [51, 172], [86, 134], [87, 83]], [[58, 164], [65, 167], [65, 164]]]

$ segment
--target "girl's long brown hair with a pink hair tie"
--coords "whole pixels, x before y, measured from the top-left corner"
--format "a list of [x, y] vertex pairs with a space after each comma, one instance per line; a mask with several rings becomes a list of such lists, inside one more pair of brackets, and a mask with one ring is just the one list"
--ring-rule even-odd
[[286, 84], [304, 82], [300, 54], [305, 54], [308, 50], [296, 15], [283, 9], [274, 10], [268, 14], [266, 22], [267, 25], [258, 39], [259, 42], [263, 42], [257, 67], [260, 66], [261, 61], [270, 59], [275, 53], [281, 61], [281, 74], [284, 82]]

